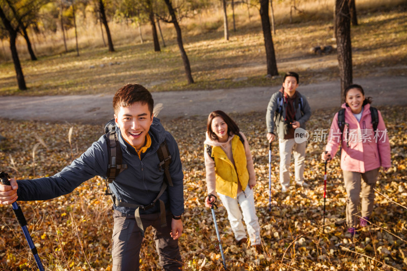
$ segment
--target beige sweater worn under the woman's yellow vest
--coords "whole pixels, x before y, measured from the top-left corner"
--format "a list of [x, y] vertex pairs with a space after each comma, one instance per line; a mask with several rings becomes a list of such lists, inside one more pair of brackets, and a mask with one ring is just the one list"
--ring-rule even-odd
[[[247, 160], [247, 171], [249, 172], [249, 186], [254, 186], [256, 184], [256, 174], [254, 172], [254, 166], [253, 166], [253, 158], [250, 153], [250, 148], [249, 148], [249, 143], [247, 142], [246, 136], [240, 132], [243, 136], [244, 139], [244, 147], [245, 147], [245, 153], [246, 153], [246, 160]], [[218, 142], [217, 140], [212, 140], [208, 132], [206, 133], [206, 140], [204, 144], [208, 144], [211, 146], [220, 146], [223, 151], [225, 152], [227, 158], [235, 165], [235, 160], [233, 159], [233, 154], [232, 154], [232, 144], [231, 140], [234, 136], [237, 135], [232, 135], [229, 136], [226, 142]], [[212, 157], [209, 156], [207, 152], [204, 152], [204, 157], [205, 157], [205, 168], [206, 168], [206, 178], [207, 178], [207, 188], [208, 188], [208, 194], [213, 194], [216, 195], [216, 177], [215, 177], [215, 161], [212, 159]], [[240, 182], [238, 182], [238, 194], [242, 191], [242, 186]]]

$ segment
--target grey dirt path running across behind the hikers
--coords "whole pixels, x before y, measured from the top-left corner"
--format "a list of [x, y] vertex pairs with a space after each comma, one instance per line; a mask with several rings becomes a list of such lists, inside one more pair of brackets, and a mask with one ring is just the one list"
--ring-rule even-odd
[[[356, 78], [366, 96], [373, 97], [374, 105], [407, 105], [407, 77]], [[329, 81], [300, 85], [312, 110], [339, 107], [340, 83]], [[251, 111], [266, 112], [271, 95], [278, 87], [248, 87], [217, 89], [214, 91], [186, 91], [153, 93], [155, 103], [163, 103], [159, 118], [171, 119], [188, 116], [207, 116], [220, 109], [227, 113]], [[112, 96], [72, 95], [43, 97], [0, 97], [0, 117], [9, 119], [39, 120], [101, 124], [113, 116]]]

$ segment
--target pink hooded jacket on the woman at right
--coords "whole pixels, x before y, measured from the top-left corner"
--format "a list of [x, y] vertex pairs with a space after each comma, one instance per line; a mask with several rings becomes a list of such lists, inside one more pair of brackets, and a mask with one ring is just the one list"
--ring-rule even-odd
[[[342, 108], [345, 108], [345, 123], [349, 124], [349, 127], [345, 125], [343, 129], [341, 169], [364, 173], [381, 166], [384, 168], [390, 167], [389, 136], [380, 111], [377, 110], [379, 124], [376, 132], [373, 132], [370, 104], [364, 106], [360, 122], [352, 113], [351, 108], [346, 107], [345, 103], [342, 104]], [[347, 133], [347, 129], [349, 129], [349, 133]], [[340, 135], [338, 113], [336, 113], [329, 131], [328, 144], [325, 148], [332, 157], [335, 156], [338, 150], [341, 140]], [[346, 139], [348, 139], [349, 147], [346, 146]]]

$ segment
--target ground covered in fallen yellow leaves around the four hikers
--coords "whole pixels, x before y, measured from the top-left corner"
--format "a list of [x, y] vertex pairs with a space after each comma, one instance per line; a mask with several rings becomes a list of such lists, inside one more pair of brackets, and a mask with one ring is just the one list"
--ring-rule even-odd
[[[391, 270], [407, 269], [407, 109], [379, 107], [389, 131], [393, 167], [380, 172], [374, 225], [352, 238], [344, 218], [345, 190], [338, 159], [328, 164], [326, 226], [323, 227], [323, 142], [312, 142], [317, 129], [328, 129], [335, 110], [315, 111], [308, 123], [305, 178], [309, 188], [278, 185], [277, 146], [273, 147], [269, 212], [268, 144], [264, 113], [234, 114], [246, 134], [254, 159], [255, 202], [265, 252], [238, 247], [224, 207], [216, 210], [226, 263], [230, 270]], [[48, 176], [79, 156], [102, 134], [102, 126], [15, 122], [0, 119], [0, 169], [18, 178]], [[207, 195], [202, 142], [206, 119], [192, 117], [164, 124], [177, 139], [185, 179], [184, 233], [180, 238], [185, 270], [221, 269], [220, 252]], [[73, 127], [71, 145], [68, 140]], [[315, 140], [317, 141], [317, 140]], [[33, 161], [34, 153], [34, 161]], [[401, 204], [402, 206], [396, 204]], [[110, 270], [111, 201], [104, 180], [88, 180], [69, 195], [53, 200], [19, 202], [47, 270]], [[36, 269], [11, 206], [0, 206], [0, 270]], [[151, 229], [141, 249], [141, 270], [156, 270], [158, 257]]]

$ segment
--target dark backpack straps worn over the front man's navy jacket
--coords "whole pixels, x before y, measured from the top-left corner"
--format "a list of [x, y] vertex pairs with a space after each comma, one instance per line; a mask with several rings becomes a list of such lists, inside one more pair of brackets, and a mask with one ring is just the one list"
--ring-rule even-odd
[[120, 146], [120, 142], [118, 139], [118, 136], [116, 134], [116, 124], [114, 122], [114, 119], [111, 119], [109, 122], [107, 122], [104, 126], [104, 132], [107, 135], [107, 152], [109, 154], [109, 164], [107, 166], [107, 172], [106, 172], [106, 179], [105, 179], [105, 185], [106, 185], [106, 190], [105, 190], [105, 195], [110, 195], [113, 201], [113, 204], [116, 206], [121, 206], [121, 207], [129, 207], [129, 208], [135, 208], [135, 217], [136, 217], [136, 222], [137, 226], [139, 227], [142, 236], [144, 236], [144, 229], [142, 227], [140, 215], [139, 215], [139, 209], [141, 210], [148, 210], [152, 207], [155, 206], [155, 203], [157, 200], [160, 202], [160, 216], [161, 216], [161, 227], [165, 227], [167, 225], [166, 219], [165, 219], [165, 205], [164, 202], [159, 199], [161, 195], [164, 193], [164, 191], [167, 189], [168, 186], [173, 186], [172, 184], [172, 179], [171, 175], [169, 173], [169, 164], [171, 163], [171, 155], [169, 154], [168, 146], [165, 142], [165, 140], [160, 144], [159, 148], [157, 149], [157, 155], [160, 160], [160, 164], [158, 166], [159, 171], [164, 171], [164, 182], [161, 187], [160, 192], [158, 193], [158, 196], [153, 200], [152, 203], [150, 203], [147, 206], [143, 205], [138, 205], [138, 204], [132, 204], [132, 203], [127, 203], [118, 200], [113, 193], [110, 193], [109, 190], [109, 184], [111, 184], [115, 177], [117, 177], [122, 171], [127, 169], [126, 164], [122, 164], [122, 147]]

